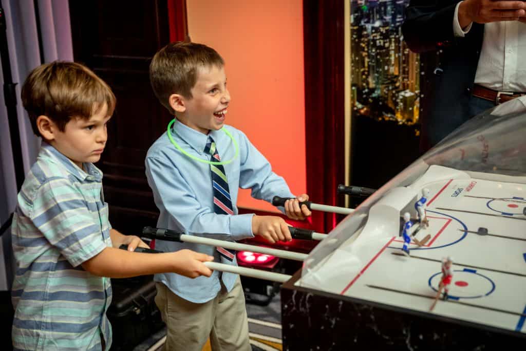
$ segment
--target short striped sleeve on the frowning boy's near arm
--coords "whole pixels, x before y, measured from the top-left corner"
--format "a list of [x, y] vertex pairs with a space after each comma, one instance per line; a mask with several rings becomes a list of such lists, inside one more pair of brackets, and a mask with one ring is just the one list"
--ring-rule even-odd
[[74, 267], [106, 248], [100, 223], [80, 190], [66, 178], [49, 180], [38, 188], [30, 217]]

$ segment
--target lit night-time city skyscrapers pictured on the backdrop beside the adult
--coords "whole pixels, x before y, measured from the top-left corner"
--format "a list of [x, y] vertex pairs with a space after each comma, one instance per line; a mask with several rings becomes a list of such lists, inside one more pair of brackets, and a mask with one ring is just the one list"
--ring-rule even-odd
[[403, 41], [409, 0], [350, 0], [354, 114], [418, 122], [420, 62]]

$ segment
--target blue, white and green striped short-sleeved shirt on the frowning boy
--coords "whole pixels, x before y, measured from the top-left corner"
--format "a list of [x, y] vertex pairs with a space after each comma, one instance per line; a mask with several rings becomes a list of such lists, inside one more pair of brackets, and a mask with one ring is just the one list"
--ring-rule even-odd
[[102, 172], [91, 163], [84, 168], [43, 142], [18, 193], [12, 225], [17, 350], [100, 350], [101, 337], [106, 349], [112, 344], [110, 280], [80, 265], [112, 245]]

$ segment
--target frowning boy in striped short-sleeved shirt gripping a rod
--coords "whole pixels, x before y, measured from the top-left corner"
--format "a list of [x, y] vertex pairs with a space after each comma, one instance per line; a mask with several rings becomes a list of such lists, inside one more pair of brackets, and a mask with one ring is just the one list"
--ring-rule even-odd
[[[104, 277], [210, 276], [203, 262], [213, 257], [190, 250], [135, 253], [147, 245], [110, 226], [102, 173], [93, 165], [115, 108], [102, 79], [76, 63], [44, 64], [27, 77], [22, 102], [42, 147], [13, 217], [14, 349], [109, 349], [112, 288]], [[122, 244], [128, 251], [118, 249]]]

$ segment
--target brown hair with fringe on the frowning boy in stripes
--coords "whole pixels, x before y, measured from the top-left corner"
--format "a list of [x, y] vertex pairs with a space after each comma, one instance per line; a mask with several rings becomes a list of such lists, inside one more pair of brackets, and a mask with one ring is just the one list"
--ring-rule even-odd
[[108, 116], [115, 109], [112, 89], [89, 68], [75, 62], [54, 61], [36, 67], [22, 86], [22, 104], [29, 114], [33, 133], [36, 119], [47, 116], [64, 132], [70, 119], [89, 119], [107, 104]]

